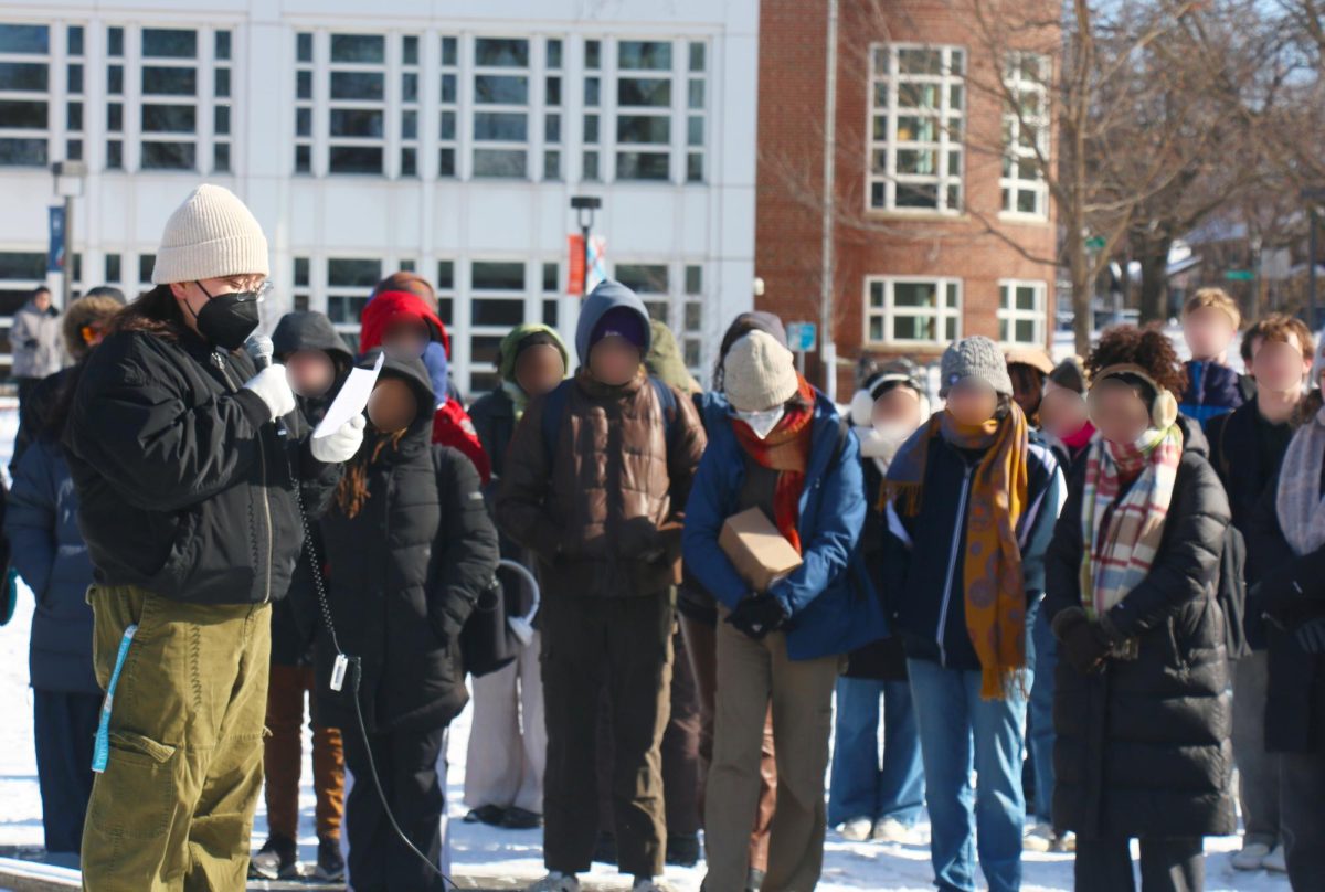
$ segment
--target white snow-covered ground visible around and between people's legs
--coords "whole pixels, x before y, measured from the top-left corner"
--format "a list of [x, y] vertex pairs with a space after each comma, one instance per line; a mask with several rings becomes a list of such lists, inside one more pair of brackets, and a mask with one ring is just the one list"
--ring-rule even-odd
[[[0, 467], [8, 465], [13, 441], [15, 412], [12, 400], [0, 402]], [[37, 765], [32, 745], [32, 691], [28, 687], [28, 632], [32, 620], [32, 598], [24, 591], [13, 620], [0, 627], [0, 847], [41, 846], [41, 798], [37, 790]], [[450, 842], [453, 869], [464, 876], [527, 879], [541, 876], [541, 831], [504, 831], [461, 823], [465, 774], [465, 746], [469, 738], [469, 710], [452, 725], [450, 774], [448, 802], [452, 815]], [[305, 753], [307, 753], [305, 746]], [[314, 797], [310, 783], [311, 766], [305, 755], [305, 785], [301, 793], [303, 814], [302, 858], [313, 860], [317, 839], [313, 835]], [[928, 826], [924, 827], [928, 832]], [[266, 816], [258, 807], [254, 846], [266, 838]], [[925, 846], [882, 846], [848, 843], [829, 832], [824, 864], [824, 892], [848, 889], [897, 889], [928, 892], [933, 888], [929, 850]], [[1210, 892], [1288, 892], [1288, 881], [1265, 872], [1240, 873], [1230, 865], [1230, 852], [1236, 851], [1236, 838], [1206, 842], [1207, 889]], [[1026, 855], [1027, 892], [1065, 891], [1072, 888], [1071, 855]], [[702, 867], [669, 868], [668, 879], [684, 892], [700, 888]], [[598, 867], [594, 879], [628, 888], [616, 880], [615, 871]]]

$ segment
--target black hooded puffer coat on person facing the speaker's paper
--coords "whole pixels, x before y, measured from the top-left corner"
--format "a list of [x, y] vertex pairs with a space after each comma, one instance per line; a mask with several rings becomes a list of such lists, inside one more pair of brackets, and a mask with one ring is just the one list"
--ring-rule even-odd
[[[366, 362], [371, 363], [370, 353]], [[497, 531], [478, 472], [433, 445], [432, 388], [423, 362], [388, 358], [383, 375], [413, 387], [419, 416], [399, 444], [368, 431], [360, 455], [367, 501], [347, 517], [334, 501], [322, 520], [331, 618], [347, 655], [363, 664], [359, 702], [370, 733], [444, 728], [468, 702], [460, 630], [493, 585]], [[333, 692], [335, 649], [318, 636], [322, 721], [354, 728], [352, 685]]]

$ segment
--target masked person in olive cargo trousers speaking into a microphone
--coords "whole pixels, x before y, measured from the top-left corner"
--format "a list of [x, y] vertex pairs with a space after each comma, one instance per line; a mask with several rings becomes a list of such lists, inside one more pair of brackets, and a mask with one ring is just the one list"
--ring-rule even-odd
[[74, 395], [102, 688], [119, 664], [83, 831], [90, 892], [244, 888], [270, 604], [303, 543], [301, 501], [317, 516], [363, 439], [362, 418], [311, 439], [285, 367], [241, 349], [268, 270], [244, 203], [196, 188], [166, 224], [155, 288], [111, 321]]

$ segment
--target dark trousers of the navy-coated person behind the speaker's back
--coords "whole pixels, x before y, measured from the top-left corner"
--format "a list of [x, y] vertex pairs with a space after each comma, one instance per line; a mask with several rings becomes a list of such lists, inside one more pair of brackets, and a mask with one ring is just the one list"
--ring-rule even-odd
[[32, 695], [46, 851], [77, 854], [82, 850], [83, 816], [91, 798], [91, 750], [101, 697], [40, 688]]

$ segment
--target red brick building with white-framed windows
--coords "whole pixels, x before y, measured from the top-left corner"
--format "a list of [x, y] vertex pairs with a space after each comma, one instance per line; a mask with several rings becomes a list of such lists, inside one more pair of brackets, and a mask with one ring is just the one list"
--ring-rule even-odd
[[[861, 358], [925, 364], [959, 337], [1052, 338], [1056, 232], [1043, 172], [1057, 33], [979, 24], [982, 7], [992, 9], [840, 4], [829, 211], [839, 399]], [[788, 322], [822, 322], [828, 15], [828, 0], [761, 5], [755, 274], [759, 306]], [[824, 380], [816, 354], [810, 372]]]

